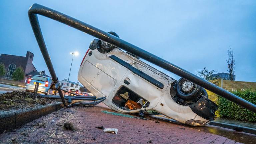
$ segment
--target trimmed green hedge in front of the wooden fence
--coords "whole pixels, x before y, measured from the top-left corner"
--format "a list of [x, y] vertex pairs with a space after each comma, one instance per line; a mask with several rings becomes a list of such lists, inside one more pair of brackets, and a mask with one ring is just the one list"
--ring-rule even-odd
[[[235, 95], [256, 104], [256, 92], [245, 90], [245, 91], [234, 91]], [[230, 102], [229, 100], [220, 97], [218, 98], [218, 114], [220, 118], [256, 122], [256, 113], [253, 113], [245, 108], [238, 106], [237, 104]]]

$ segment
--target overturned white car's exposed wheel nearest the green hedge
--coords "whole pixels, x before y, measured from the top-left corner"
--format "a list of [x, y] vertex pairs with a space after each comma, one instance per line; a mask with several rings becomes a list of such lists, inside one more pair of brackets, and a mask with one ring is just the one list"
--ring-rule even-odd
[[176, 85], [176, 93], [183, 100], [196, 99], [202, 92], [202, 87], [188, 81], [184, 78], [180, 78]]

